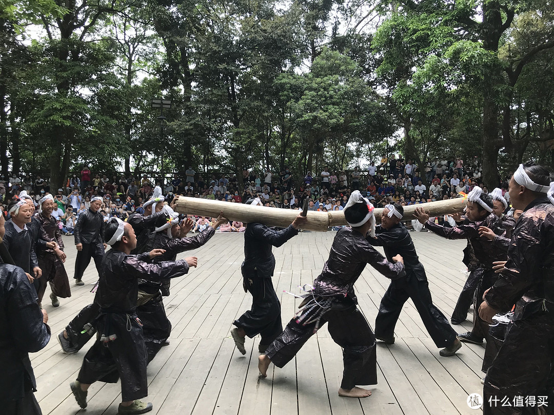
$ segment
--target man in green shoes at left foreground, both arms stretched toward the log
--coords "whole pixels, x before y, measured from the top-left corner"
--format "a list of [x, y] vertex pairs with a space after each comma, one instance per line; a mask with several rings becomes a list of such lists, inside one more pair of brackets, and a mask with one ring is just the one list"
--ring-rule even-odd
[[147, 351], [142, 323], [136, 314], [139, 278], [161, 281], [182, 276], [189, 267], [196, 267], [197, 258], [146, 263], [145, 260], [164, 251], [130, 255], [136, 247], [135, 232], [131, 225], [117, 218], [106, 226], [105, 239], [112, 248], [102, 260], [95, 298], [100, 305], [98, 337], [84, 357], [77, 380], [71, 382], [71, 391], [79, 406], [86, 408], [91, 383], [115, 383], [121, 378], [119, 413], [145, 413], [151, 411], [152, 404], [140, 401], [148, 395], [148, 386]]

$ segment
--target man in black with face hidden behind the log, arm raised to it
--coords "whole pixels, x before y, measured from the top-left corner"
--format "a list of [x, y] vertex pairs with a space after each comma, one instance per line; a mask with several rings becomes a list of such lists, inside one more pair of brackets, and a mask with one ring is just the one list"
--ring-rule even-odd
[[[261, 204], [260, 199], [248, 200], [247, 204]], [[260, 208], [261, 209], [261, 208]], [[244, 262], [241, 271], [245, 292], [252, 294], [252, 308], [233, 322], [236, 328], [231, 330], [237, 349], [244, 355], [244, 339], [261, 334], [258, 350], [265, 349], [283, 331], [281, 324], [281, 304], [275, 293], [271, 277], [275, 269], [273, 246], [280, 247], [298, 234], [299, 227], [306, 222], [306, 216], [296, 216], [293, 223], [280, 231], [251, 223], [244, 231]]]

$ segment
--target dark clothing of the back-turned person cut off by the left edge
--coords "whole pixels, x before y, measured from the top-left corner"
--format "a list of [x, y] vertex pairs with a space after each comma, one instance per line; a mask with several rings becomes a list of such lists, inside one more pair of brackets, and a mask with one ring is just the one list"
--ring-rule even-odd
[[0, 405], [13, 405], [35, 391], [29, 353], [43, 349], [50, 328], [23, 269], [0, 264]]

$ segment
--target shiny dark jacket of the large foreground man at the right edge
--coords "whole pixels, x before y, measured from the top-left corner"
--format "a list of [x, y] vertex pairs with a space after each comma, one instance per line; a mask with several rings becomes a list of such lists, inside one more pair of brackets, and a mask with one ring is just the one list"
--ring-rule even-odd
[[[554, 206], [538, 198], [526, 207], [512, 232], [505, 271], [485, 296], [500, 312], [514, 304], [514, 320], [554, 312]], [[554, 323], [554, 317], [550, 318]]]

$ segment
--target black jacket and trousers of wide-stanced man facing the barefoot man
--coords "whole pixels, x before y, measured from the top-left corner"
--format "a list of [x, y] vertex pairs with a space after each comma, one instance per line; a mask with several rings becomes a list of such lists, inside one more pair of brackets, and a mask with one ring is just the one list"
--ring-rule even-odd
[[435, 345], [437, 347], [451, 345], [456, 338], [456, 332], [444, 314], [433, 305], [425, 269], [419, 262], [412, 237], [406, 227], [397, 224], [391, 229], [383, 229], [379, 225], [375, 232], [376, 238], [367, 237], [367, 241], [372, 245], [382, 246], [389, 261], [398, 254], [402, 255], [406, 268], [406, 277], [391, 281], [383, 295], [375, 320], [377, 338], [389, 339], [394, 336], [394, 327], [404, 303], [411, 298]]

